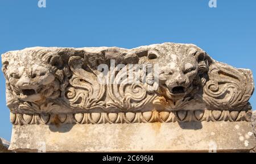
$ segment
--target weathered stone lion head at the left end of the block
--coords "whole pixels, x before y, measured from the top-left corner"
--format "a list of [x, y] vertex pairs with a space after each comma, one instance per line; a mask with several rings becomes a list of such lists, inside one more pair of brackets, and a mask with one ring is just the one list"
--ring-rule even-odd
[[60, 54], [40, 48], [26, 53], [5, 54], [2, 70], [11, 95], [7, 104], [11, 101], [13, 105], [13, 101], [18, 99], [40, 105], [48, 99], [56, 99], [64, 82], [64, 64]]

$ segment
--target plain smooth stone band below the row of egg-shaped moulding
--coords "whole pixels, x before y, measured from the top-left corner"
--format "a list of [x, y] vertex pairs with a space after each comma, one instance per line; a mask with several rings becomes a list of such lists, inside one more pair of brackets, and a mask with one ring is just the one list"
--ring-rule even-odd
[[16, 152], [249, 152], [247, 121], [14, 125]]

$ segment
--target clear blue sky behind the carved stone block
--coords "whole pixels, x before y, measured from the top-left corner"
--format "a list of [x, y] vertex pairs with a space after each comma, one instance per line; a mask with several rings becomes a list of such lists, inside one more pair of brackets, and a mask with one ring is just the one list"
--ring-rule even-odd
[[[193, 43], [215, 60], [253, 70], [256, 77], [256, 1], [217, 0], [0, 1], [0, 54], [26, 47], [123, 47]], [[2, 67], [2, 65], [1, 65]], [[0, 73], [0, 136], [11, 124]], [[250, 100], [256, 106], [256, 96]]]

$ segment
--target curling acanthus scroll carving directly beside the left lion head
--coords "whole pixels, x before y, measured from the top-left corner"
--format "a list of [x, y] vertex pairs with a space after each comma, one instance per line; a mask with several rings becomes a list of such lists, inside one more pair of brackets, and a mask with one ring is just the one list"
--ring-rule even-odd
[[64, 101], [73, 108], [104, 109], [105, 102], [101, 99], [105, 94], [106, 87], [97, 82], [97, 73], [80, 56], [72, 56], [69, 58], [68, 64], [72, 76], [62, 94]]

